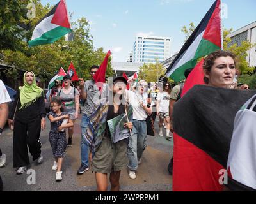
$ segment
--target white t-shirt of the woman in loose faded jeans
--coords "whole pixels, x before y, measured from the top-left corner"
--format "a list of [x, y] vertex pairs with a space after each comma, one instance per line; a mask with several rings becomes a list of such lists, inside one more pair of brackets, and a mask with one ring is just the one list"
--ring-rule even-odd
[[143, 104], [147, 106], [148, 94], [144, 93], [143, 95], [141, 95], [138, 92], [125, 90], [125, 98], [127, 99], [128, 103], [132, 105], [133, 119], [143, 121], [146, 120], [148, 115], [145, 110], [140, 106], [139, 101], [143, 101]]

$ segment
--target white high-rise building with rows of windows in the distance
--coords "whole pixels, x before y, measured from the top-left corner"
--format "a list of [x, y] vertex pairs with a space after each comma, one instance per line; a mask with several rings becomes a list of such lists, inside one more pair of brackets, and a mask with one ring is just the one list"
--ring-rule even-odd
[[136, 36], [132, 51], [132, 62], [161, 62], [171, 56], [171, 40], [158, 36]]

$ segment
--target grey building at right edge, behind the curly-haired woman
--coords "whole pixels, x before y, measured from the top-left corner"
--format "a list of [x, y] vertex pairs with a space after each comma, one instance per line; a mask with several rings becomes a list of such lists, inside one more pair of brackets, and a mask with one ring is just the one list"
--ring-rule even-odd
[[[246, 25], [241, 27], [237, 31], [230, 33], [228, 35], [231, 38], [231, 42], [228, 43], [228, 47], [234, 45], [235, 43], [239, 46], [241, 45], [242, 41], [249, 41], [252, 44], [256, 43], [256, 21], [252, 24]], [[246, 61], [248, 62], [249, 66], [256, 67], [256, 46], [250, 48], [248, 50], [248, 56], [246, 57]]]

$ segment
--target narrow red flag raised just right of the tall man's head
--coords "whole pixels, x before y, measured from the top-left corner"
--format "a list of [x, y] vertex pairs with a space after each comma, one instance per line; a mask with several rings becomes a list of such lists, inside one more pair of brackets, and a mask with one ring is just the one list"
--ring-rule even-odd
[[110, 50], [108, 50], [108, 53], [106, 54], [106, 57], [104, 58], [104, 61], [102, 62], [102, 64], [100, 64], [100, 67], [99, 67], [97, 73], [95, 73], [95, 75], [93, 76], [93, 79], [95, 80], [95, 82], [99, 88], [99, 91], [101, 91], [103, 84], [106, 82], [106, 70], [107, 70], [107, 66], [108, 66], [108, 57], [110, 55], [111, 55], [111, 52], [110, 52]]

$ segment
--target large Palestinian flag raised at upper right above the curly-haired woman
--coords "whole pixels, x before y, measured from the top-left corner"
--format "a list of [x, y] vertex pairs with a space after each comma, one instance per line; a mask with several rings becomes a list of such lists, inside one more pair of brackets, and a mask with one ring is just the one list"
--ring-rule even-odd
[[175, 82], [184, 80], [184, 71], [195, 67], [198, 58], [221, 49], [220, 4], [220, 0], [212, 4], [210, 10], [167, 68], [166, 77], [172, 78]]

